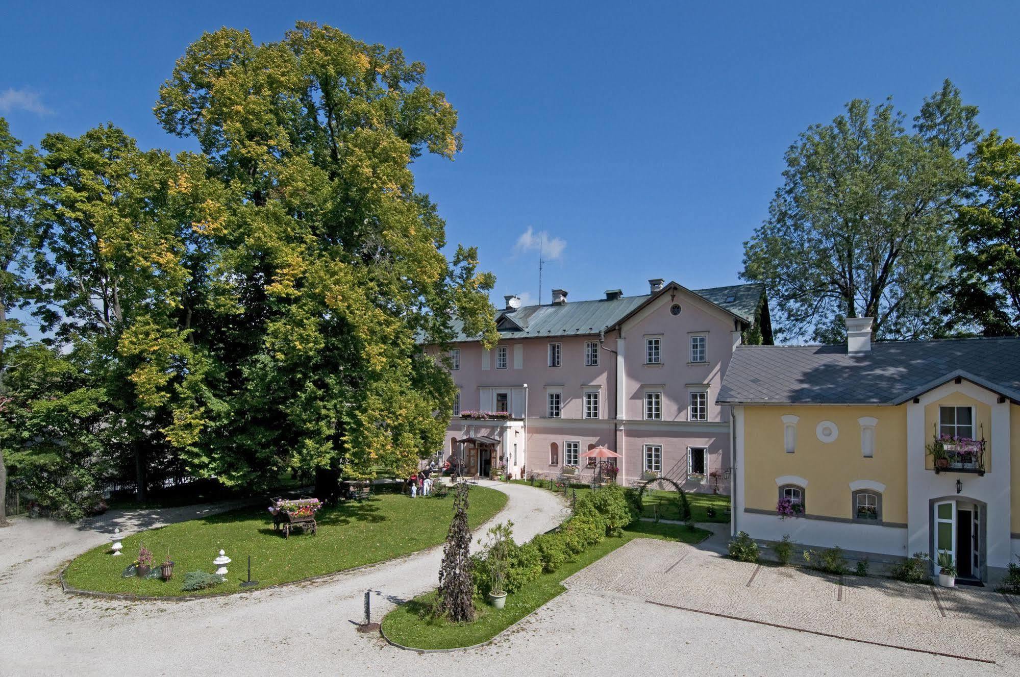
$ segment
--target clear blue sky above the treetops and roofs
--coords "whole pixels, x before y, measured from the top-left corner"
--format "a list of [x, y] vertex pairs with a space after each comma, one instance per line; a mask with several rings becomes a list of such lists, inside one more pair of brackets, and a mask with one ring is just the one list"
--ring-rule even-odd
[[[476, 245], [493, 295], [538, 297], [530, 228], [557, 250], [543, 301], [650, 277], [737, 281], [782, 155], [855, 97], [913, 116], [945, 77], [985, 128], [1018, 133], [1020, 5], [1008, 3], [7, 3], [0, 115], [27, 143], [111, 120], [143, 147], [194, 148], [152, 115], [204, 31], [273, 41], [329, 23], [423, 61], [460, 112], [464, 152], [422, 158], [451, 243]], [[45, 7], [45, 9], [43, 9]], [[523, 251], [522, 251], [523, 250]]]

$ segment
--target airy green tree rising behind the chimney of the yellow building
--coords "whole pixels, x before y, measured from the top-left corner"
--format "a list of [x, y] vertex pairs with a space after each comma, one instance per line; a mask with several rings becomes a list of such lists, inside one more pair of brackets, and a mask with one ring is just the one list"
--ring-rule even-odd
[[875, 317], [879, 337], [942, 330], [932, 308], [952, 271], [976, 115], [946, 81], [911, 129], [891, 101], [857, 99], [800, 136], [745, 243], [742, 276], [765, 282], [777, 334], [837, 342], [843, 318], [857, 316]]

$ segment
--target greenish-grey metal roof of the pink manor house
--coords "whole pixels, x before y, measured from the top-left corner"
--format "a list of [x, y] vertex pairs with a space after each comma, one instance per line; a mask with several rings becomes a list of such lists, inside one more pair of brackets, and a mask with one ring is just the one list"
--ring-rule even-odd
[[[755, 311], [765, 289], [762, 284], [735, 284], [707, 290], [693, 290], [695, 294], [714, 303], [749, 324], [754, 321]], [[504, 315], [513, 320], [520, 330], [512, 327], [501, 329], [501, 338], [530, 338], [536, 336], [570, 336], [595, 334], [612, 326], [636, 310], [652, 295], [621, 297], [619, 299], [597, 301], [569, 301], [561, 306], [522, 306], [512, 313], [497, 311], [499, 320]], [[732, 301], [727, 301], [732, 298]], [[454, 321], [456, 335], [454, 342], [476, 341], [461, 331], [460, 322]]]

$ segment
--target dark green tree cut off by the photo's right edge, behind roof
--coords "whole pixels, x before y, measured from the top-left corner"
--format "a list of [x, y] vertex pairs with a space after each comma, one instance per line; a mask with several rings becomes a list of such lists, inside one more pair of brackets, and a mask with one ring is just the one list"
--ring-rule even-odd
[[960, 207], [952, 322], [1020, 333], [1020, 144], [989, 133], [974, 149], [973, 199]]

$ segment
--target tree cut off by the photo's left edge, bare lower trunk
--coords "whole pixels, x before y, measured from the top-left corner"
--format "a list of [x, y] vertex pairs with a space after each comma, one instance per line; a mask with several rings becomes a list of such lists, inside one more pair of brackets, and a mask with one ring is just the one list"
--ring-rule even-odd
[[[39, 158], [21, 148], [0, 117], [0, 397], [6, 397], [8, 337], [22, 333], [20, 322], [9, 316], [38, 297], [32, 260], [39, 238], [34, 222]], [[7, 524], [7, 466], [0, 445], [0, 526]]]

